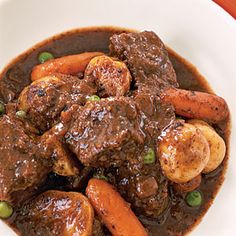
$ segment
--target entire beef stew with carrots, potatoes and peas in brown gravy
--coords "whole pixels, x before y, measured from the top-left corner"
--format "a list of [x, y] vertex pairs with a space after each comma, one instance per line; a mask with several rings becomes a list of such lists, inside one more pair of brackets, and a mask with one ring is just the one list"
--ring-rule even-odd
[[184, 235], [211, 205], [228, 107], [154, 32], [71, 31], [0, 78], [0, 200], [19, 235]]

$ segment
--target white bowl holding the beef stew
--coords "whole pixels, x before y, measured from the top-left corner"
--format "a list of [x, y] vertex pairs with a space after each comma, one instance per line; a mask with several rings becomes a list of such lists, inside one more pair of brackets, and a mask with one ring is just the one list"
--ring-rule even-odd
[[[49, 36], [96, 25], [155, 31], [227, 100], [233, 124], [226, 179], [192, 235], [236, 235], [236, 21], [210, 0], [0, 0], [0, 69]], [[0, 221], [0, 235], [14, 233]]]

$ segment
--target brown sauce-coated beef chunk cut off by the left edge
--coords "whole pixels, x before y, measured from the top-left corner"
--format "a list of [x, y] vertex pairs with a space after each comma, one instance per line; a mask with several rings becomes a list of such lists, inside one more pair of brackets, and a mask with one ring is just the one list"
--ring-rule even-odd
[[[16, 204], [16, 193], [37, 188], [51, 170], [51, 162], [28, 135], [22, 121], [4, 115], [0, 120], [0, 200]], [[32, 194], [32, 191], [29, 191]], [[27, 196], [26, 196], [27, 197]]]

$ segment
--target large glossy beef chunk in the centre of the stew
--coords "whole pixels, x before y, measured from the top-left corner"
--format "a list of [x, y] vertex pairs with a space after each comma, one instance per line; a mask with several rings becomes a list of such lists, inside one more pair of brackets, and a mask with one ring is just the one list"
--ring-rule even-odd
[[87, 102], [77, 111], [65, 136], [84, 165], [121, 165], [144, 143], [143, 120], [130, 98]]

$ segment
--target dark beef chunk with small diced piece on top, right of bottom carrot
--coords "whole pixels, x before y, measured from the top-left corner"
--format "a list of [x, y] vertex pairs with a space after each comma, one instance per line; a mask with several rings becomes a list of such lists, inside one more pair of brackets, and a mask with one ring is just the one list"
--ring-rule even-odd
[[[168, 180], [163, 176], [159, 161], [144, 164], [142, 152], [115, 172], [115, 185], [139, 215], [157, 218], [169, 202]], [[156, 158], [157, 159], [157, 158]]]

